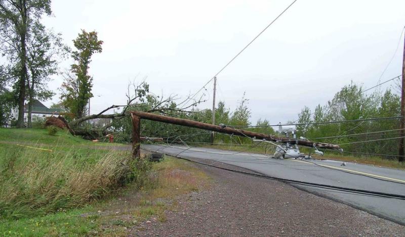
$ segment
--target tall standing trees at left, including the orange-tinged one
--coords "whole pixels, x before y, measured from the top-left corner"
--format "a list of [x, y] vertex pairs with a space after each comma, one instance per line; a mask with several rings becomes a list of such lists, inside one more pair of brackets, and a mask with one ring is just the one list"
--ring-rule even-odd
[[[60, 107], [80, 118], [93, 96], [93, 77], [89, 75], [91, 57], [101, 53], [103, 41], [97, 32], [82, 30], [73, 40], [75, 50], [63, 43], [61, 34], [47, 29], [41, 22], [50, 16], [50, 0], [0, 0], [0, 123], [11, 119], [17, 108], [16, 127], [25, 127], [24, 106], [27, 103], [26, 126], [32, 126], [35, 100], [48, 100], [55, 93], [48, 88], [54, 75], [62, 75]], [[62, 73], [59, 63], [70, 55], [74, 63]]]

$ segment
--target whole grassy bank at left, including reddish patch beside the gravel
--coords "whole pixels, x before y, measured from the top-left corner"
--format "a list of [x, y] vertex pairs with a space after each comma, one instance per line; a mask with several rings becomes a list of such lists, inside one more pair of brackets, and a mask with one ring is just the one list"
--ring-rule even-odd
[[[185, 162], [172, 159], [150, 170], [147, 162], [129, 162], [128, 151], [100, 150], [107, 145], [66, 131], [52, 136], [42, 129], [2, 128], [0, 137], [2, 236], [125, 234], [123, 226], [134, 221], [150, 216], [164, 221], [164, 210], [172, 206], [154, 200], [197, 189], [200, 184], [195, 180], [204, 178]], [[140, 195], [128, 208], [130, 223], [99, 212], [111, 206], [122, 189], [131, 197]]]

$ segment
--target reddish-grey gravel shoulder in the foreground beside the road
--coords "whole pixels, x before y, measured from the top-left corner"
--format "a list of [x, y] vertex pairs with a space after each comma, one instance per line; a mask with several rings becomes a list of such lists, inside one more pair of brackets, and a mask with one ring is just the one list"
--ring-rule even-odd
[[211, 188], [180, 197], [166, 222], [144, 222], [132, 236], [405, 236], [405, 226], [291, 185], [195, 165]]

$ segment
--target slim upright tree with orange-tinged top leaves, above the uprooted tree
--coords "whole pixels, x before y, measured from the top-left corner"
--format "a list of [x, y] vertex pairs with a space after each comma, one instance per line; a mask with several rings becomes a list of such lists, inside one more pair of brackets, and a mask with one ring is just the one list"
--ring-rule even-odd
[[76, 61], [71, 65], [71, 72], [65, 76], [62, 83], [61, 100], [66, 108], [74, 113], [76, 118], [85, 115], [85, 109], [89, 99], [93, 97], [93, 77], [89, 75], [91, 57], [95, 53], [101, 53], [103, 41], [98, 40], [97, 32], [86, 32], [82, 30], [77, 38], [73, 40], [76, 51], [72, 52], [72, 58]]

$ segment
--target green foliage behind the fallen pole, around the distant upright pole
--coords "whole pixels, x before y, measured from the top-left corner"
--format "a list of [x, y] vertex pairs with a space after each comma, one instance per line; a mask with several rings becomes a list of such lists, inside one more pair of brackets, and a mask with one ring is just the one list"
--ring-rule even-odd
[[[146, 82], [144, 82], [146, 83]], [[145, 91], [144, 91], [145, 92]], [[139, 94], [139, 93], [138, 93]], [[135, 104], [126, 108], [126, 110], [139, 110], [150, 111], [156, 105], [160, 104], [161, 100], [158, 96], [153, 94], [144, 93]], [[191, 111], [179, 111], [179, 105], [175, 101], [171, 101], [165, 111], [155, 111], [154, 113], [169, 115], [176, 118], [190, 119], [194, 121], [212, 123], [211, 110], [192, 109]], [[172, 111], [172, 112], [170, 112]], [[231, 112], [226, 108], [224, 102], [219, 102], [215, 110], [215, 123], [225, 125], [249, 125], [250, 109], [248, 108], [248, 99], [242, 96], [240, 104]], [[259, 120], [258, 124], [268, 124], [267, 120]], [[120, 143], [131, 142], [132, 122], [129, 116], [112, 121], [112, 132], [114, 133], [114, 140]], [[268, 128], [255, 128], [257, 132], [273, 133], [273, 129]], [[182, 144], [182, 140], [193, 145], [197, 143], [210, 143], [210, 131], [201, 130], [197, 128], [190, 128], [186, 126], [179, 126], [167, 123], [159, 123], [150, 120], [142, 120], [141, 122], [141, 135], [148, 137], [163, 137], [165, 141], [172, 144]], [[248, 138], [236, 138], [228, 134], [216, 133], [215, 140], [217, 143], [251, 143]]]

